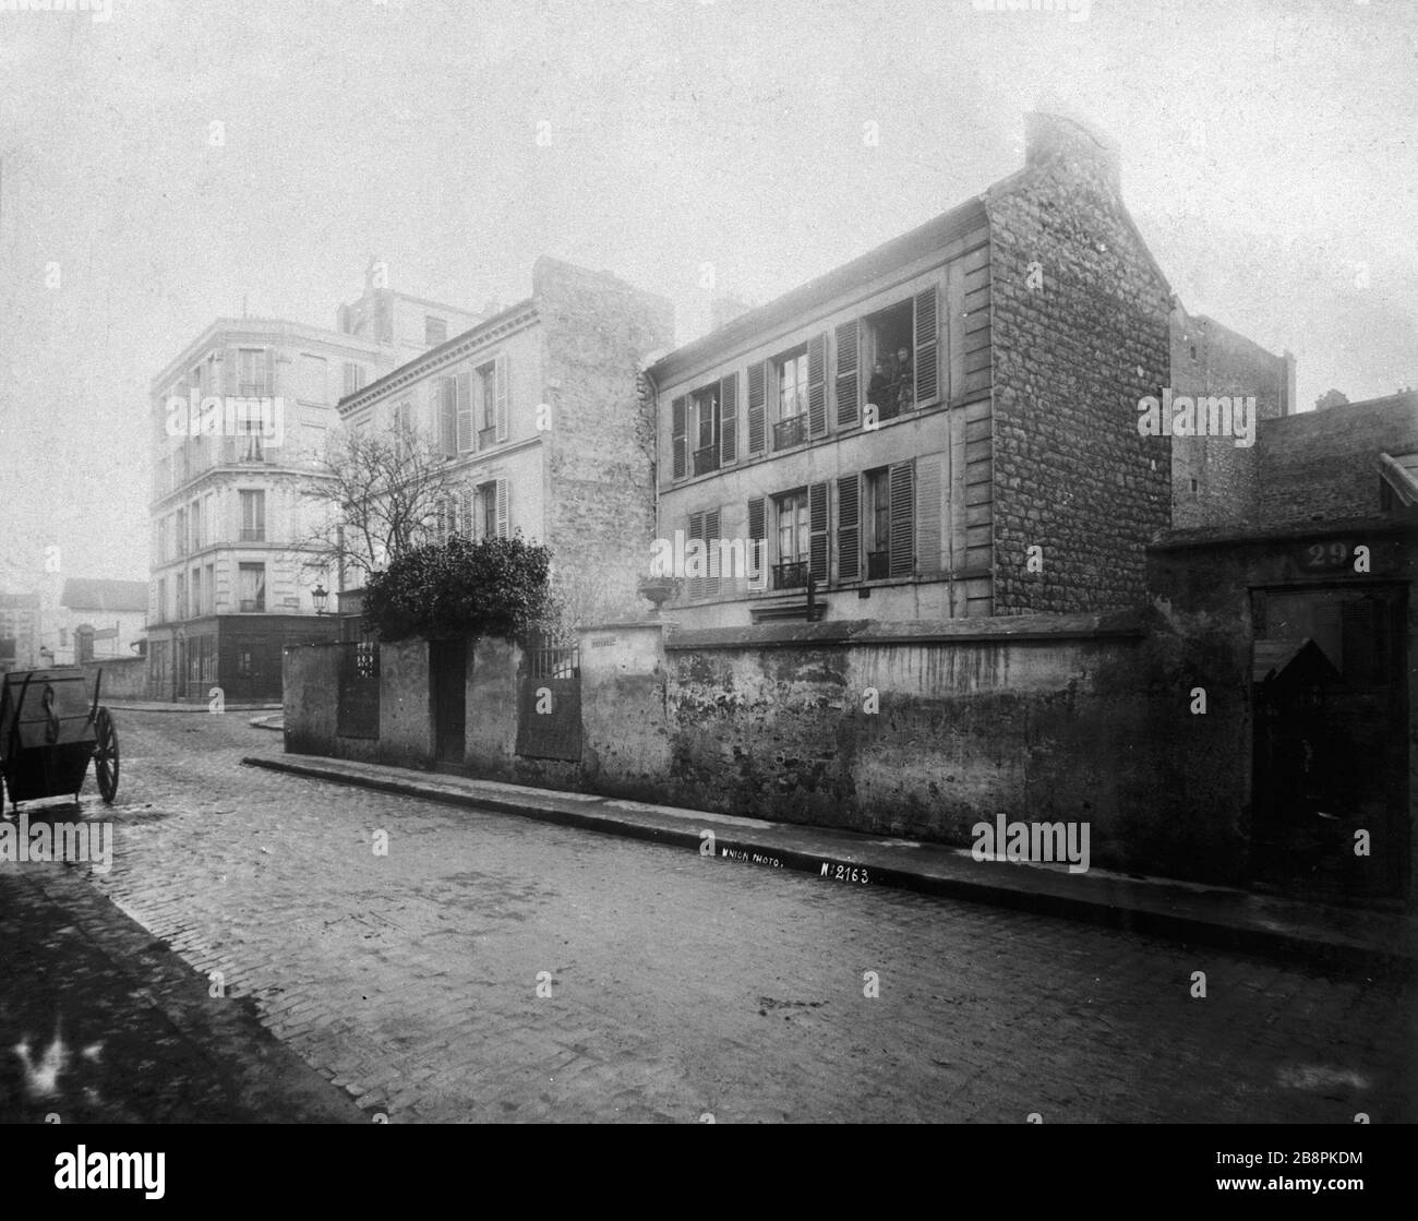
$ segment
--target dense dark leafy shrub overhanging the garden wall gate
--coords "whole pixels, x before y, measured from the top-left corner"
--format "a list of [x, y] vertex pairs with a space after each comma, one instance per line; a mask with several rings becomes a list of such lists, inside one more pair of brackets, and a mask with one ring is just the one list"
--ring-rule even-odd
[[364, 587], [364, 627], [381, 641], [501, 637], [526, 641], [549, 613], [552, 553], [520, 535], [454, 537], [404, 552]]

